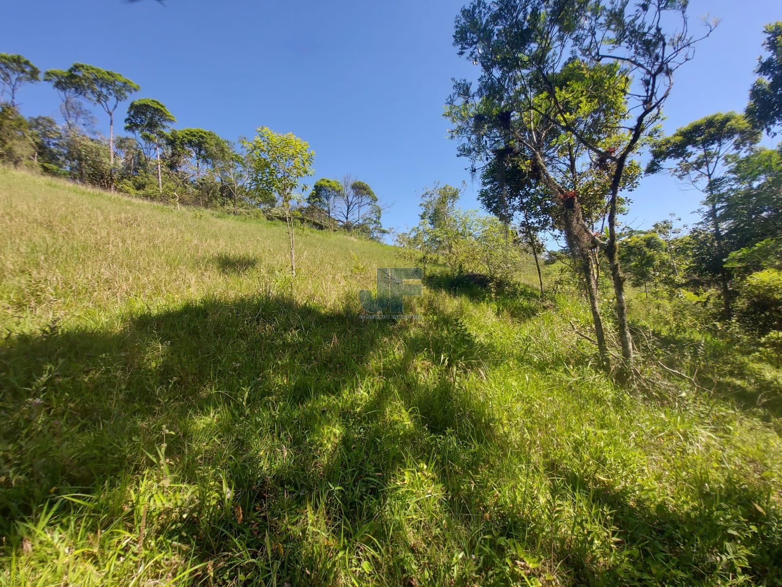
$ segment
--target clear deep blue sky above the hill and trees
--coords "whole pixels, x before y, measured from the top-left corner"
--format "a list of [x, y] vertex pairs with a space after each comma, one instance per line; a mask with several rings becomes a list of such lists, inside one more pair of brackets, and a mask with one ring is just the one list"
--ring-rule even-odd
[[[465, 180], [461, 206], [477, 207], [478, 185], [441, 116], [450, 78], [475, 74], [451, 44], [465, 3], [20, 0], [4, 2], [0, 52], [21, 53], [41, 70], [74, 62], [116, 70], [141, 85], [135, 97], [165, 103], [180, 128], [227, 139], [261, 125], [293, 132], [315, 150], [316, 177], [363, 179], [392, 205], [383, 224], [404, 229], [417, 221], [421, 189], [435, 181]], [[782, 19], [782, 5], [691, 0], [689, 13], [721, 23], [678, 72], [666, 131], [743, 110], [762, 27]], [[43, 83], [17, 99], [27, 116], [57, 113], [56, 92]], [[669, 212], [692, 221], [699, 200], [663, 176], [644, 178], [632, 198], [626, 221], [637, 228]]]

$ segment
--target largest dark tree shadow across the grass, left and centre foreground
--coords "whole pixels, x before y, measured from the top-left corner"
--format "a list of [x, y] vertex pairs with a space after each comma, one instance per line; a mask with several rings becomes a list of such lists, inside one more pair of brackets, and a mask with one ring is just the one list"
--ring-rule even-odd
[[[7, 340], [5, 549], [19, 548], [19, 523], [57, 495], [132, 484], [164, 450], [178, 483], [214, 495], [225, 479], [245, 512], [240, 524], [232, 506], [202, 495], [179, 506], [186, 519], [169, 516], [157, 529], [192, 537], [193, 560], [217, 565], [213, 580], [259, 564], [239, 556], [239, 541], [244, 553], [264, 553], [270, 576], [333, 582], [339, 550], [356, 547], [351, 537], [393, 541], [382, 508], [400, 470], [432, 459], [468, 470], [482, 455], [475, 443], [494, 442], [482, 403], [455, 384], [456, 373], [484, 369], [490, 350], [456, 319], [429, 319], [429, 328], [362, 321], [256, 297], [142, 315], [117, 333], [52, 326]], [[444, 434], [454, 442], [447, 455], [437, 448]], [[458, 492], [457, 482], [449, 489]], [[59, 516], [83, 517], [73, 502], [60, 504]], [[317, 548], [306, 531], [313, 508], [328, 520]], [[280, 545], [272, 553], [267, 535]]]

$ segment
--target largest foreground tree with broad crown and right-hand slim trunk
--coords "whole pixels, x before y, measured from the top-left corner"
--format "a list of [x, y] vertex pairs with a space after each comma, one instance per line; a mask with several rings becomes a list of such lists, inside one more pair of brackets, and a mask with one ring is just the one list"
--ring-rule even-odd
[[[618, 255], [619, 193], [635, 172], [633, 155], [662, 117], [673, 72], [691, 59], [697, 39], [687, 32], [686, 9], [685, 0], [633, 7], [627, 0], [473, 0], [454, 33], [460, 55], [482, 72], [475, 89], [457, 81], [449, 101], [455, 134], [470, 143], [462, 154], [486, 157], [498, 148], [522, 154], [556, 203], [571, 250], [584, 260], [594, 248], [603, 251], [614, 286], [622, 379], [630, 373], [633, 343]], [[584, 221], [583, 189], [561, 179], [561, 153], [570, 150], [571, 167], [591, 162], [604, 171], [604, 238]], [[588, 275], [587, 262], [582, 265]], [[599, 320], [594, 312], [593, 318]], [[597, 322], [595, 328], [599, 338]]]

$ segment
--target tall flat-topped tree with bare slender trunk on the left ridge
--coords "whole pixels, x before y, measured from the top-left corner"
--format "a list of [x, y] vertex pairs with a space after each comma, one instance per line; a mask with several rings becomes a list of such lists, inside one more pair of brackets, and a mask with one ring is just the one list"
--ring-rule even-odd
[[114, 112], [120, 102], [124, 102], [133, 92], [138, 92], [138, 84], [116, 71], [86, 63], [70, 66], [64, 81], [77, 95], [100, 106], [109, 115], [109, 189], [114, 191]]

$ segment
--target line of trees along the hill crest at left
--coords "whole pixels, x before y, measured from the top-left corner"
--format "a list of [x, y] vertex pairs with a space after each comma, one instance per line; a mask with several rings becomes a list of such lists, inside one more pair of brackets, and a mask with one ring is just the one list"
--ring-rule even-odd
[[[41, 81], [59, 95], [61, 121], [21, 115], [20, 90]], [[111, 70], [74, 63], [41, 73], [24, 56], [0, 53], [0, 163], [163, 203], [289, 219], [371, 239], [386, 234], [382, 203], [366, 182], [346, 175], [321, 178], [311, 190], [303, 184], [314, 172], [314, 153], [301, 139], [265, 127], [236, 141], [204, 128], [175, 128], [174, 113], [159, 100], [134, 99], [139, 91]], [[128, 101], [127, 110], [120, 108]], [[96, 114], [109, 122], [108, 137], [96, 130]], [[281, 183], [284, 173], [269, 172], [270, 165], [279, 171], [305, 153], [295, 182]]]

